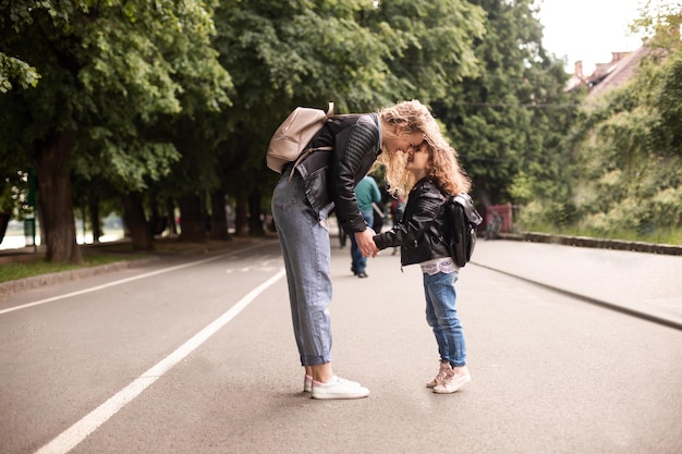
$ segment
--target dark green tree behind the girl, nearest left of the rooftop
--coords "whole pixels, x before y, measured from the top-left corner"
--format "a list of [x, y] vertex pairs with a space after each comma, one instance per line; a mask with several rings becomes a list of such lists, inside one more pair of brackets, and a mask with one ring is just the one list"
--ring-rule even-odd
[[475, 47], [484, 68], [478, 77], [449, 86], [436, 112], [477, 197], [500, 204], [511, 200], [514, 182], [534, 191], [561, 169], [559, 144], [574, 109], [563, 93], [562, 63], [541, 45], [533, 1], [472, 3], [487, 13], [486, 34]]

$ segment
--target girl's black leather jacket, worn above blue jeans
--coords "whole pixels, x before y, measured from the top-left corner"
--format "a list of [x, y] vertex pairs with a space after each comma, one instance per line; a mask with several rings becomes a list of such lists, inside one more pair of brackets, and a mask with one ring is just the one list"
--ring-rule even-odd
[[400, 247], [403, 266], [450, 257], [442, 242], [442, 207], [446, 197], [428, 179], [419, 180], [407, 197], [403, 220], [374, 237], [379, 249]]

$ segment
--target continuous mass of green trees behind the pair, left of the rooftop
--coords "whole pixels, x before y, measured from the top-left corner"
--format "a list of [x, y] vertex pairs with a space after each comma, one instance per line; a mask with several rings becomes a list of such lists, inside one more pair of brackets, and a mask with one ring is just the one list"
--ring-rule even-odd
[[48, 258], [77, 260], [74, 199], [119, 198], [145, 229], [171, 199], [183, 222], [224, 218], [229, 194], [256, 230], [267, 142], [293, 108], [416, 98], [486, 201], [560, 194], [559, 68], [529, 0], [15, 0], [0, 3], [1, 169], [35, 169]]

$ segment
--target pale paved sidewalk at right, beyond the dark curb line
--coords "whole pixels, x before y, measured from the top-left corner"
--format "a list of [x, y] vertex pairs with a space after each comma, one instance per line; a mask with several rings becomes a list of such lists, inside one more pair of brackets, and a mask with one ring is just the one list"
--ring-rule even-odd
[[682, 330], [680, 256], [479, 240], [472, 263]]

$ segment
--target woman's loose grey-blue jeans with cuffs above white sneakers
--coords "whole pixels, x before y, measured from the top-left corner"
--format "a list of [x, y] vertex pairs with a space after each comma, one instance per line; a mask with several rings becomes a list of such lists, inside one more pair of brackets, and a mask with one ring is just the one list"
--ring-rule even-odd
[[272, 194], [277, 228], [289, 285], [291, 319], [301, 365], [331, 361], [331, 250], [328, 213], [319, 216], [307, 204], [303, 180], [282, 174]]

